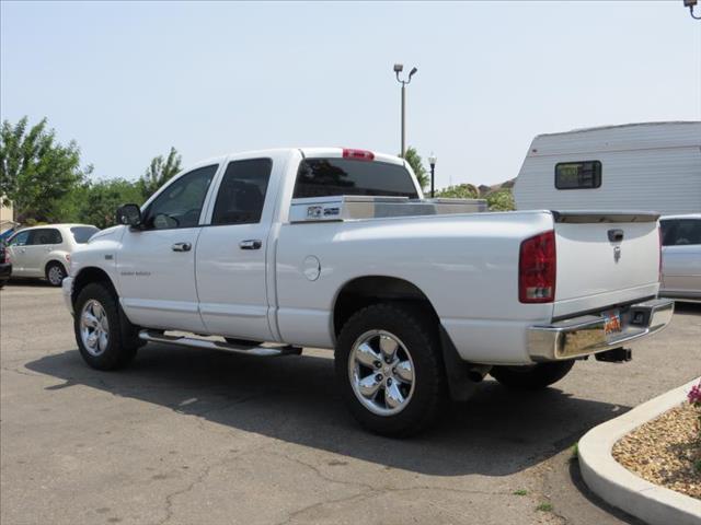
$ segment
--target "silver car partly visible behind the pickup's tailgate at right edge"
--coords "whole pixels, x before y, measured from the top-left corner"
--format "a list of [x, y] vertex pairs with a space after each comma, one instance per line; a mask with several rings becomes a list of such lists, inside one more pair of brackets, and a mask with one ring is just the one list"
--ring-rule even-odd
[[659, 224], [659, 295], [678, 301], [701, 301], [701, 213], [663, 217]]

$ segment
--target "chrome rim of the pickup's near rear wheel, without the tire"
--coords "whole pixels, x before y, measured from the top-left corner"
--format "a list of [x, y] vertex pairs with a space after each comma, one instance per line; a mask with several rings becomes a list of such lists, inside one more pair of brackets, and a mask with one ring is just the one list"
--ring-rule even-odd
[[350, 349], [348, 377], [360, 404], [378, 416], [406, 408], [414, 394], [414, 361], [406, 346], [386, 330], [370, 330]]

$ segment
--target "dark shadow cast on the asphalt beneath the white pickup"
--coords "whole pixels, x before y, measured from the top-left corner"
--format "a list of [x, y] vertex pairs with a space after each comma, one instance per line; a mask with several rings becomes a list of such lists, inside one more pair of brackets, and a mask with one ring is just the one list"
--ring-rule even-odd
[[469, 402], [452, 404], [436, 429], [397, 441], [355, 423], [337, 393], [331, 359], [260, 359], [149, 345], [120, 372], [89, 369], [77, 350], [26, 368], [65, 381], [47, 389], [87, 385], [286, 442], [440, 476], [520, 471], [628, 409], [556, 388], [516, 393], [485, 381]]

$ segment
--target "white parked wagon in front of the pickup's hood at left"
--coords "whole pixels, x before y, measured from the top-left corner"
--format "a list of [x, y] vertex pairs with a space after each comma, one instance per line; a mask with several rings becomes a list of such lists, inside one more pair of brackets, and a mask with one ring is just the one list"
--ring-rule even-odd
[[47, 224], [25, 228], [8, 240], [12, 277], [45, 278], [60, 287], [68, 276], [70, 254], [100, 230], [90, 224]]

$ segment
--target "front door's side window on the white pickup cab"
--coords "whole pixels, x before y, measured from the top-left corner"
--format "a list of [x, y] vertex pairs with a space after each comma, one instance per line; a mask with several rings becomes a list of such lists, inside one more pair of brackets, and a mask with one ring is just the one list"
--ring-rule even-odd
[[195, 228], [217, 167], [212, 164], [193, 170], [165, 188], [146, 211], [146, 229]]

